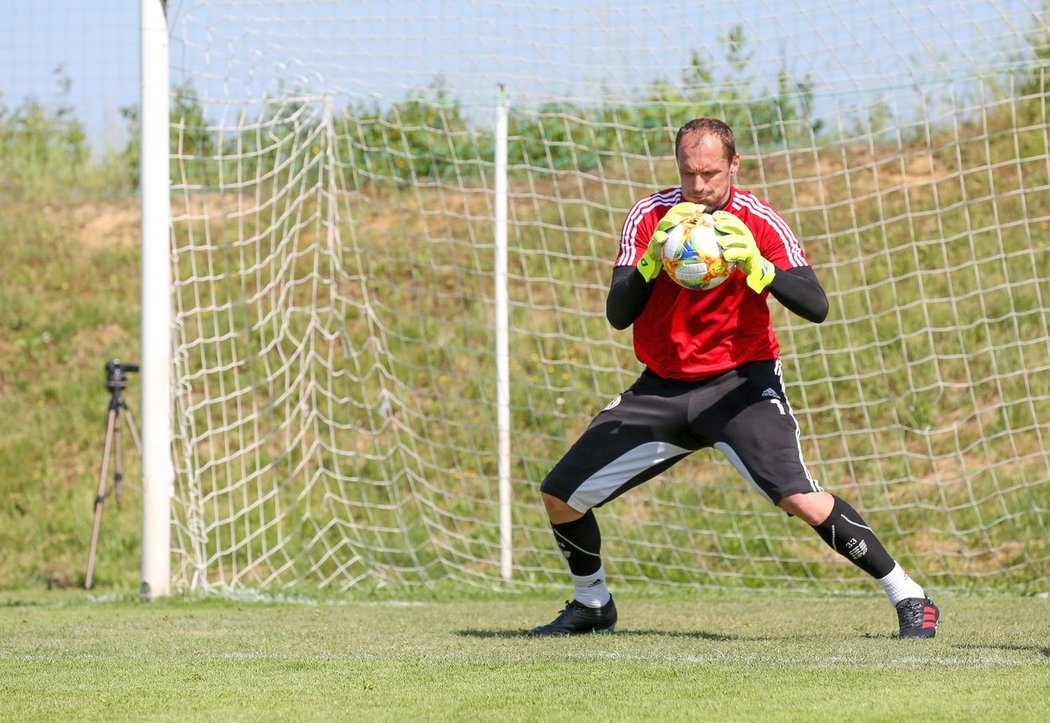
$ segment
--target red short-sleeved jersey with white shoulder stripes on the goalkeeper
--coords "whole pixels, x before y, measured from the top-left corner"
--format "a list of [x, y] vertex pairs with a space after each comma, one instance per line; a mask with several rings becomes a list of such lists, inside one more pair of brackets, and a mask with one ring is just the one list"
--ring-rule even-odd
[[[615, 265], [637, 265], [656, 224], [681, 201], [680, 188], [639, 199], [624, 222]], [[766, 201], [731, 187], [724, 210], [751, 229], [759, 252], [778, 269], [810, 265], [786, 221]], [[777, 358], [780, 345], [766, 305], [769, 291], [755, 294], [740, 271], [708, 291], [679, 286], [664, 272], [653, 283], [633, 332], [638, 361], [655, 374], [700, 380], [750, 361]]]

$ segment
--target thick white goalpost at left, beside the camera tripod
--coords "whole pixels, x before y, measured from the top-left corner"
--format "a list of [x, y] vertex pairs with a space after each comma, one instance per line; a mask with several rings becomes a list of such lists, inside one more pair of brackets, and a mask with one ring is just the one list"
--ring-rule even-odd
[[142, 95], [142, 599], [171, 591], [171, 253], [168, 23], [140, 0]]

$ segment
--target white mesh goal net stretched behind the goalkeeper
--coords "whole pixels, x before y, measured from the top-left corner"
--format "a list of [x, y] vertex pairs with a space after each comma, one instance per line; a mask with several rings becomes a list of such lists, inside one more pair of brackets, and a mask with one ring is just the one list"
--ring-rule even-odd
[[[169, 2], [176, 589], [565, 583], [624, 216], [714, 115], [831, 300], [771, 300], [814, 476], [924, 584], [1045, 590], [1050, 18], [928, 5]], [[701, 451], [602, 508], [608, 574], [870, 590], [749, 487]]]

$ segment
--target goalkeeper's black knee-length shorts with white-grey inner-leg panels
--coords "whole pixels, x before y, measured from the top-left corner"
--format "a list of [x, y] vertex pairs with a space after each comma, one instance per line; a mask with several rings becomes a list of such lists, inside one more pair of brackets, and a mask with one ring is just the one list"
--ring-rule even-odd
[[780, 360], [750, 362], [702, 382], [647, 369], [598, 412], [541, 490], [586, 512], [705, 447], [721, 451], [773, 504], [821, 490], [802, 461]]

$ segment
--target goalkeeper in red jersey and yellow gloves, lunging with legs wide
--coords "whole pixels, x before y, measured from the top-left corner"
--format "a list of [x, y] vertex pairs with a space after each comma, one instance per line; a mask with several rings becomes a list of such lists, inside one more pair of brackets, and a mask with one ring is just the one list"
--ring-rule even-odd
[[[827, 297], [802, 247], [773, 207], [733, 186], [740, 156], [728, 125], [690, 121], [674, 151], [680, 186], [645, 196], [627, 214], [606, 306], [614, 327], [633, 324], [634, 352], [646, 368], [543, 481], [574, 597], [529, 634], [613, 631], [616, 607], [592, 508], [714, 447], [773, 504], [879, 581], [902, 638], [933, 637], [937, 605], [857, 510], [821, 489], [803, 462], [766, 306], [772, 294], [810, 321], [826, 318]], [[736, 271], [709, 291], [687, 290], [660, 273], [660, 252], [669, 229], [705, 210], [726, 234], [719, 240]]]

